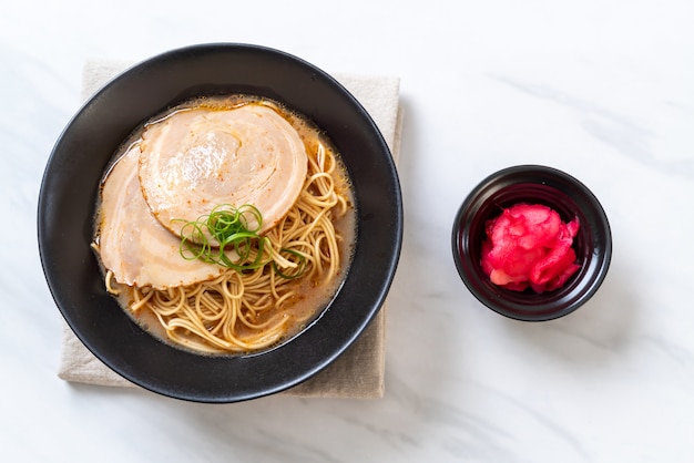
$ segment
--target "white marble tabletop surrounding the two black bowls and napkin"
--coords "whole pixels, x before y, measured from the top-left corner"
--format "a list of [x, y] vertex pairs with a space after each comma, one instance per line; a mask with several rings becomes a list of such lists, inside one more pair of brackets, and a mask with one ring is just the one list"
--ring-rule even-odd
[[[105, 3], [105, 2], [104, 2]], [[10, 2], [0, 14], [0, 443], [8, 461], [685, 462], [694, 450], [694, 3], [690, 0]], [[386, 397], [228, 405], [55, 377], [61, 319], [35, 239], [41, 176], [85, 59], [278, 48], [398, 75], [406, 230]], [[610, 274], [522, 323], [458, 278], [465, 195], [509, 165], [602, 200]]]

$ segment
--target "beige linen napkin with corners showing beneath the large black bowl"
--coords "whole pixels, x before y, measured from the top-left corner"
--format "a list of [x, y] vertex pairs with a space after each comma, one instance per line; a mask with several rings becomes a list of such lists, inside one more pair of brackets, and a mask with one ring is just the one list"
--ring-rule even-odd
[[[130, 63], [90, 60], [83, 70], [82, 97], [88, 99]], [[400, 142], [399, 79], [334, 74], [364, 105], [380, 128], [397, 160]], [[386, 307], [357, 341], [325, 370], [282, 392], [298, 397], [382, 398], [386, 367]], [[72, 382], [135, 387], [96, 359], [63, 322], [62, 356], [58, 375]]]

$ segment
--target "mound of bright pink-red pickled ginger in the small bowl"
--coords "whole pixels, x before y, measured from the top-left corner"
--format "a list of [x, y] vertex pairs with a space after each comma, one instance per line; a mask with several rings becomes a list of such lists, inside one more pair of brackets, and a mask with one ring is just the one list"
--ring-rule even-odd
[[487, 223], [482, 270], [507, 289], [535, 292], [561, 288], [580, 266], [572, 248], [579, 218], [563, 223], [539, 204], [517, 204]]

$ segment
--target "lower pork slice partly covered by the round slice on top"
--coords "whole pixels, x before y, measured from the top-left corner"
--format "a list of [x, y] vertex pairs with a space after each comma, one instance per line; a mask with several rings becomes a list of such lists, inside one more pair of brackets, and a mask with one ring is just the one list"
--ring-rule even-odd
[[120, 284], [156, 289], [206, 281], [225, 269], [181, 256], [181, 238], [154, 218], [142, 196], [140, 147], [131, 146], [109, 173], [101, 193], [99, 254]]

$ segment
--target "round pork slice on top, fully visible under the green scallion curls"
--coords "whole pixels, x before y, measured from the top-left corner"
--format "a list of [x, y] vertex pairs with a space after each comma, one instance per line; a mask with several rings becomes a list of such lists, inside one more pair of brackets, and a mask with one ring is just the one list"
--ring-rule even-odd
[[255, 206], [263, 234], [292, 208], [306, 171], [297, 131], [257, 103], [178, 111], [143, 133], [142, 192], [152, 214], [175, 235], [185, 222], [226, 204]]

